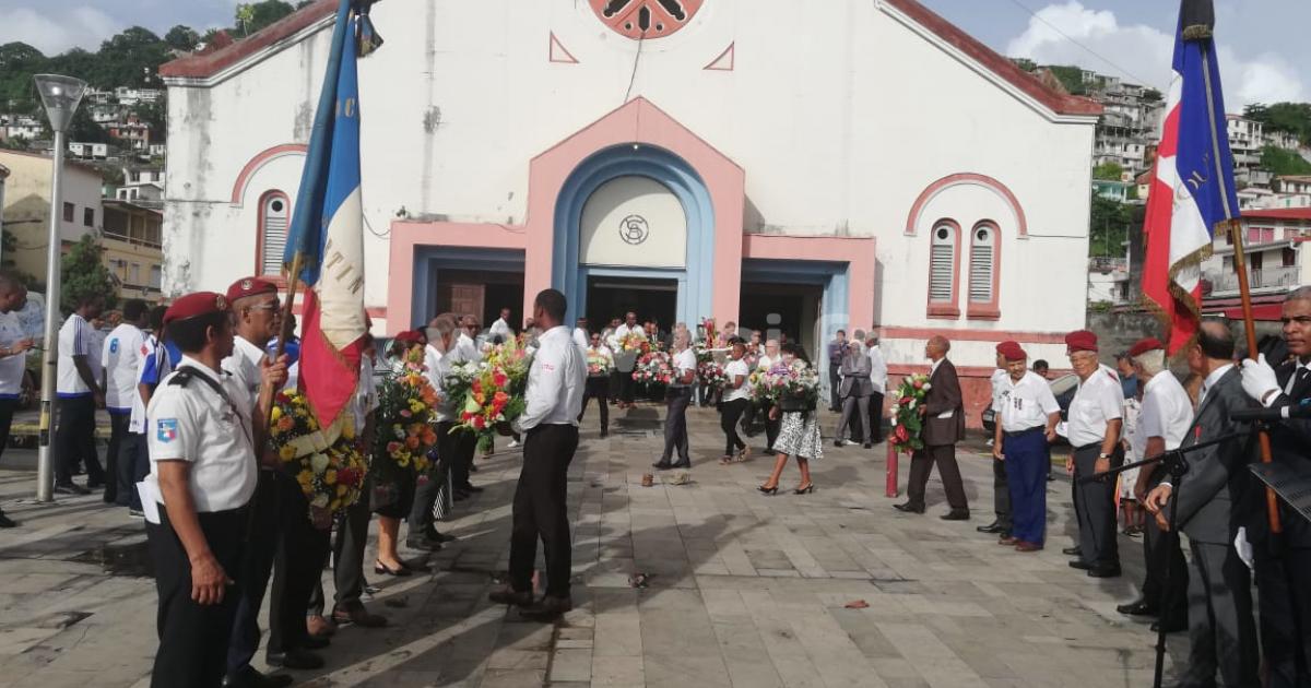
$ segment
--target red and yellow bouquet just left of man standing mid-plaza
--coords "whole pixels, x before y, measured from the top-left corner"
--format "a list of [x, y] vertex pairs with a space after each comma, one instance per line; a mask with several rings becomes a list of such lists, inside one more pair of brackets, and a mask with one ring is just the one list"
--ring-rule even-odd
[[509, 434], [510, 423], [527, 408], [528, 354], [518, 341], [496, 345], [479, 363], [456, 366], [446, 379], [456, 405], [459, 425], [452, 432], [475, 432], [479, 448], [489, 451], [496, 434]]

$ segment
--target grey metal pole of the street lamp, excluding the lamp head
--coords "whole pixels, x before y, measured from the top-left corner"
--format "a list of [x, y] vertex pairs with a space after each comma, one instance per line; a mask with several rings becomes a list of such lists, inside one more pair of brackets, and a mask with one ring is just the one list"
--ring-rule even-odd
[[46, 244], [46, 334], [41, 350], [41, 436], [37, 447], [37, 501], [52, 502], [55, 457], [50, 451], [54, 429], [55, 380], [59, 376], [59, 223], [63, 219], [64, 132], [55, 130], [54, 166], [50, 172], [50, 236]]

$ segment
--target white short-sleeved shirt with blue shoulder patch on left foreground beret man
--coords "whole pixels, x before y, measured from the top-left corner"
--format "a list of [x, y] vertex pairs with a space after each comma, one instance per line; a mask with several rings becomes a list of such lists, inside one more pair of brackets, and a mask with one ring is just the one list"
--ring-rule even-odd
[[[254, 494], [258, 470], [250, 435], [250, 400], [229, 375], [190, 356], [182, 356], [178, 371], [182, 368], [208, 377], [223, 393], [205, 380], [170, 384], [177, 371], [160, 383], [146, 414], [151, 453], [151, 473], [146, 480], [157, 486], [161, 461], [186, 461], [191, 467], [187, 486], [198, 512], [240, 508]], [[163, 491], [159, 494], [163, 501]]]

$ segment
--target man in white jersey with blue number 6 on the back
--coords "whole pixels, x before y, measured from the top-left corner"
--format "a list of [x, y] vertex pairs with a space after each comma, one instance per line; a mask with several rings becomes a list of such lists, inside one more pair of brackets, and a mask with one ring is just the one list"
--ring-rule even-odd
[[[132, 485], [134, 456], [125, 453], [127, 426], [136, 398], [136, 373], [146, 345], [146, 301], [132, 299], [123, 304], [123, 321], [105, 338], [101, 349], [101, 375], [105, 409], [109, 410], [109, 449], [105, 455], [105, 503], [127, 506]], [[135, 447], [134, 447], [135, 448]]]

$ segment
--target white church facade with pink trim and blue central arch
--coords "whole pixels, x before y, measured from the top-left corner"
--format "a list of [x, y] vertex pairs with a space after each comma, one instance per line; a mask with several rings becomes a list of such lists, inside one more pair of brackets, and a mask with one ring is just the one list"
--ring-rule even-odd
[[[160, 69], [166, 294], [279, 273], [336, 5]], [[998, 341], [1061, 368], [1084, 324], [1100, 107], [915, 0], [385, 0], [372, 18], [380, 333], [522, 318], [552, 286], [594, 324], [714, 317], [813, 353], [873, 329], [894, 375], [941, 332], [978, 405]]]

